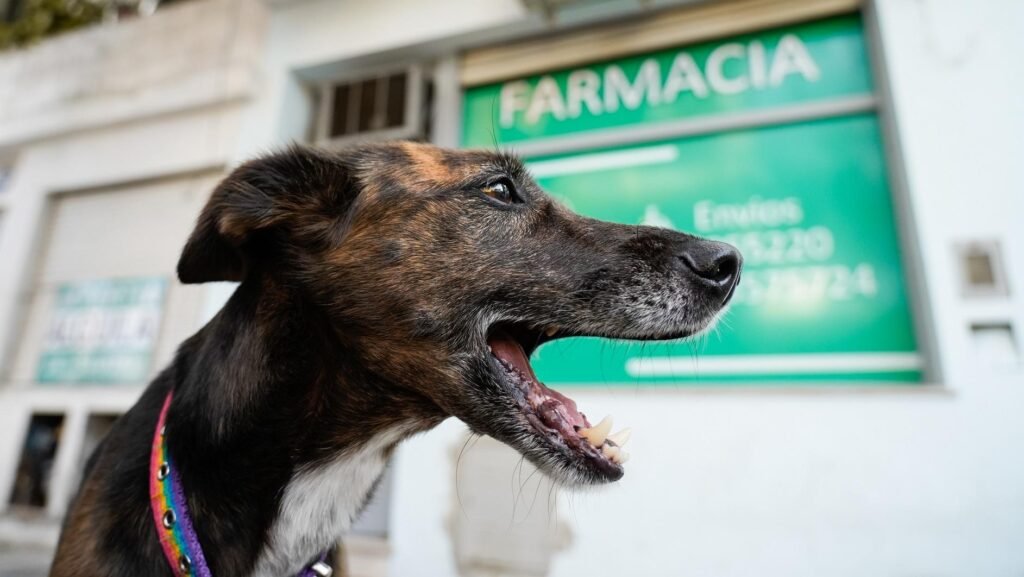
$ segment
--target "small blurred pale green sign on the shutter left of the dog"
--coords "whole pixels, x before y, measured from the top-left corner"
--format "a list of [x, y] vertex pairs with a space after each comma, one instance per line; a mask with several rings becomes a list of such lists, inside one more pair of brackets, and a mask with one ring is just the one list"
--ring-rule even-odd
[[166, 284], [163, 278], [144, 278], [60, 285], [37, 380], [143, 381], [159, 334]]

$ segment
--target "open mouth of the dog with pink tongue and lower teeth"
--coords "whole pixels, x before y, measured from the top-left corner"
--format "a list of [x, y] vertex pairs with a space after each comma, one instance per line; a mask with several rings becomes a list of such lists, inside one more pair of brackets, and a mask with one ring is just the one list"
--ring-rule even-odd
[[534, 348], [542, 340], [555, 336], [553, 329], [547, 334], [534, 334], [515, 327], [500, 327], [490, 331], [487, 344], [500, 372], [513, 388], [523, 418], [547, 451], [561, 455], [567, 461], [565, 464], [587, 471], [587, 477], [594, 481], [616, 481], [629, 458], [622, 449], [629, 439], [629, 429], [609, 435], [610, 417], [591, 424], [574, 401], [545, 386], [529, 365]]

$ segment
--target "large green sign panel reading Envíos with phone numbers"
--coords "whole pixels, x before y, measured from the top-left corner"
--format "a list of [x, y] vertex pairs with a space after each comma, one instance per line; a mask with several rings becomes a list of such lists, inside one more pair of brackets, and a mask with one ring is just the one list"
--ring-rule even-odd
[[731, 311], [699, 343], [555, 342], [539, 374], [919, 380], [879, 130], [855, 115], [534, 159], [541, 186], [578, 212], [724, 240], [745, 258]]

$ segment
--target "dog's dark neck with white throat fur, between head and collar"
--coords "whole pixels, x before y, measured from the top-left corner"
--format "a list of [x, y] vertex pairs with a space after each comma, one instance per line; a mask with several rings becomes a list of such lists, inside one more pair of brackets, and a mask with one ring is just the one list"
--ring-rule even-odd
[[326, 318], [249, 280], [169, 369], [168, 449], [214, 575], [294, 573], [348, 529], [394, 446], [442, 418], [360, 369]]

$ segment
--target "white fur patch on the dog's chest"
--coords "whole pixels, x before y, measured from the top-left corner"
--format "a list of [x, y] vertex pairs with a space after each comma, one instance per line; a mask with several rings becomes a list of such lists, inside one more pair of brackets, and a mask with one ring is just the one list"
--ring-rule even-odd
[[338, 542], [383, 472], [384, 451], [402, 437], [399, 429], [383, 431], [355, 451], [295, 475], [253, 577], [296, 575]]

